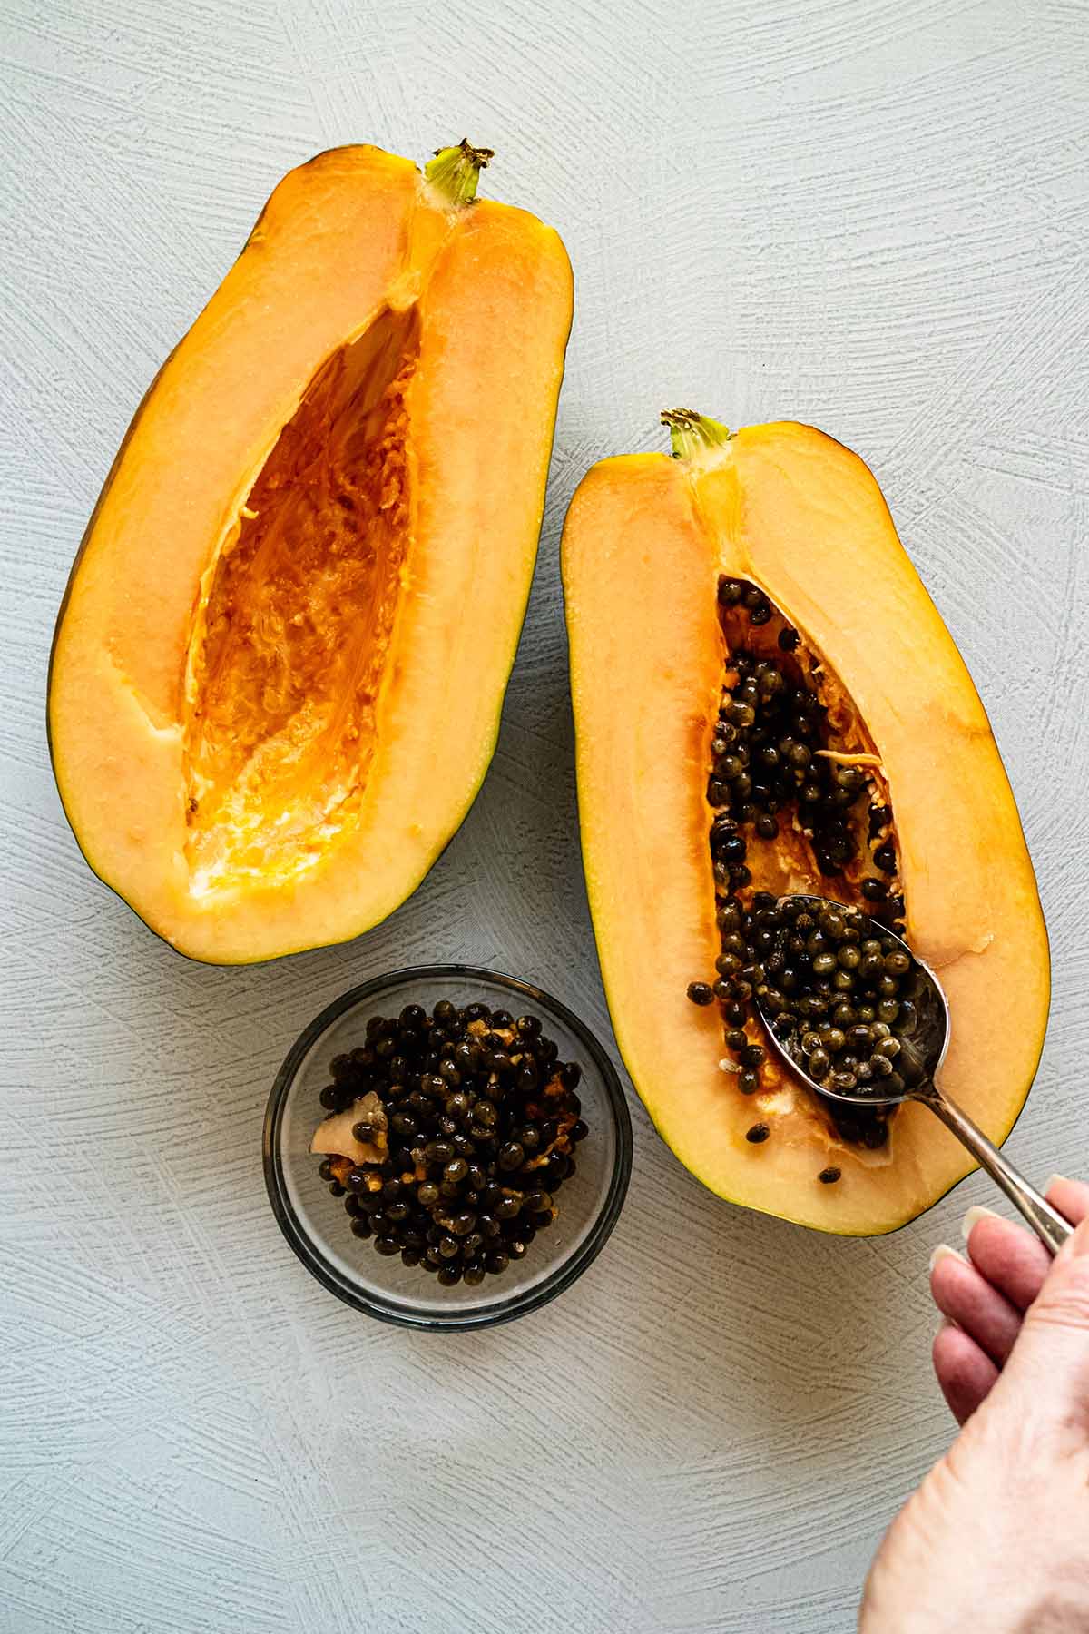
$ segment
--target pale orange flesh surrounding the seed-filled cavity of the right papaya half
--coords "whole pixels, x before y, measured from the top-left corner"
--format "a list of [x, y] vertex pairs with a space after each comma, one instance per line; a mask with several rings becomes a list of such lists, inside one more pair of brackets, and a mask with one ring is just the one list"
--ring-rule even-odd
[[[911, 1105], [887, 1149], [846, 1144], [785, 1075], [741, 1096], [718, 1069], [718, 1007], [686, 998], [718, 953], [705, 788], [723, 574], [759, 585], [859, 706], [888, 778], [908, 940], [950, 998], [944, 1082], [996, 1141], [1047, 1028], [1032, 864], [983, 706], [856, 454], [777, 423], [591, 469], [565, 523], [563, 593], [586, 887], [620, 1054], [660, 1134], [712, 1191], [878, 1235], [968, 1173], [960, 1144]], [[996, 1052], [993, 1018], [1014, 997], [1016, 1038]], [[769, 1139], [749, 1144], [758, 1121]], [[826, 1165], [842, 1172], [836, 1185], [820, 1185]]]

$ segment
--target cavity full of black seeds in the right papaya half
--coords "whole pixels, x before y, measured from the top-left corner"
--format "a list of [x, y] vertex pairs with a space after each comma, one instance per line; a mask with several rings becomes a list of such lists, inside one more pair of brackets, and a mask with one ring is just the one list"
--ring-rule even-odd
[[[891, 1036], [896, 1023], [900, 1033], [906, 998], [900, 984], [908, 972], [865, 962], [860, 936], [836, 940], [820, 931], [808, 951], [816, 922], [798, 944], [800, 933], [784, 928], [779, 899], [820, 894], [905, 935], [895, 820], [880, 757], [842, 683], [759, 585], [722, 577], [717, 598], [723, 686], [707, 804], [720, 953], [715, 980], [697, 975], [687, 995], [696, 1005], [718, 1000], [727, 1059], [736, 1064], [733, 1082], [743, 1095], [756, 1093], [766, 1078], [774, 1083], [780, 1070], [764, 1059], [756, 997], [766, 1013], [782, 1018], [784, 1034], [793, 1025], [792, 1036], [805, 1036], [811, 1077], [828, 1077], [831, 1087], [834, 1074], [844, 1083], [854, 1072], [857, 1087], [857, 1069], [865, 1062], [877, 1087], [887, 1077], [877, 1062], [890, 1062], [875, 1052], [880, 1038], [873, 1036], [870, 1060], [859, 1033], [847, 1047], [846, 1029], [877, 1025]], [[882, 961], [887, 953], [882, 948]], [[906, 1016], [911, 1020], [911, 1010]], [[891, 1092], [883, 1087], [883, 1093]], [[878, 1149], [888, 1141], [885, 1109], [821, 1103], [821, 1114], [846, 1142]], [[759, 1129], [766, 1134], [754, 1136]], [[759, 1144], [767, 1132], [766, 1124], [754, 1124], [746, 1139]]]

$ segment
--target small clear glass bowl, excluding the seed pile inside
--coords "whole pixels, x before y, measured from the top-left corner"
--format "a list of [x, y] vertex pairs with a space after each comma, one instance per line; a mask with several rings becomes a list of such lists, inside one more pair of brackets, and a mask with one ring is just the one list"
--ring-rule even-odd
[[[353, 1237], [344, 1199], [318, 1176], [310, 1139], [325, 1108], [333, 1056], [364, 1041], [372, 1015], [397, 1015], [408, 1003], [431, 1010], [480, 1000], [491, 1010], [539, 1015], [560, 1060], [578, 1060], [578, 1093], [589, 1134], [578, 1147], [578, 1170], [557, 1190], [558, 1214], [529, 1245], [478, 1288], [444, 1288], [400, 1257], [384, 1258], [372, 1240]], [[509, 1322], [547, 1304], [586, 1270], [617, 1222], [632, 1173], [632, 1121], [620, 1080], [598, 1039], [558, 1000], [529, 982], [467, 964], [421, 964], [379, 975], [333, 1000], [300, 1033], [276, 1075], [264, 1114], [264, 1185], [279, 1227], [305, 1268], [331, 1294], [380, 1322], [415, 1328], [475, 1328]]]

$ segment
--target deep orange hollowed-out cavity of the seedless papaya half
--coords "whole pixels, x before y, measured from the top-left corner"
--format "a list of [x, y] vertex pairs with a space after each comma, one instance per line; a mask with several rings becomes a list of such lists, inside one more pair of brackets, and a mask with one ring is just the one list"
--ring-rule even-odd
[[313, 866], [358, 812], [408, 552], [415, 309], [318, 369], [216, 565], [189, 649], [193, 891]]

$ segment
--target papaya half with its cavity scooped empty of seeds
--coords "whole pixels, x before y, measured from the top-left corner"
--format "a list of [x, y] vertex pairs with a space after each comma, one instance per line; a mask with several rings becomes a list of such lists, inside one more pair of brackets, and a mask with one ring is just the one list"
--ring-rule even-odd
[[415, 889], [496, 742], [571, 270], [491, 155], [292, 170], [163, 364], [77, 557], [54, 771], [171, 946], [343, 941]]

